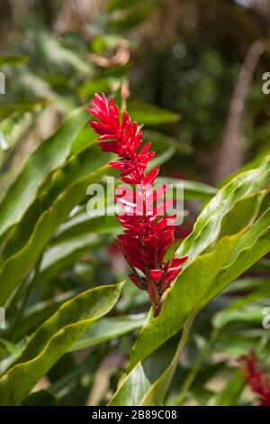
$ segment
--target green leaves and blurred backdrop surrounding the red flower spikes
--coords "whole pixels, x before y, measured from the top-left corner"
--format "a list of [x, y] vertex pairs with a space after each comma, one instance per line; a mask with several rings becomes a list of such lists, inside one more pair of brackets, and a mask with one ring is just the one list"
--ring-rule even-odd
[[[269, 2], [0, 11], [0, 403], [256, 404], [238, 357], [269, 367]], [[184, 181], [189, 262], [153, 321], [117, 221], [85, 212], [112, 172], [87, 124], [95, 92], [144, 124], [160, 181]]]

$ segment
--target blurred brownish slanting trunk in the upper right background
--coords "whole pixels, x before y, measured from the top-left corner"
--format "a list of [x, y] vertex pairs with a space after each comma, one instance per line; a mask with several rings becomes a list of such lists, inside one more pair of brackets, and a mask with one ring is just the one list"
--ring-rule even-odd
[[264, 51], [266, 51], [266, 41], [253, 42], [240, 69], [238, 81], [231, 97], [229, 114], [214, 171], [215, 182], [220, 182], [232, 172], [237, 171], [245, 160], [245, 104], [258, 60]]

